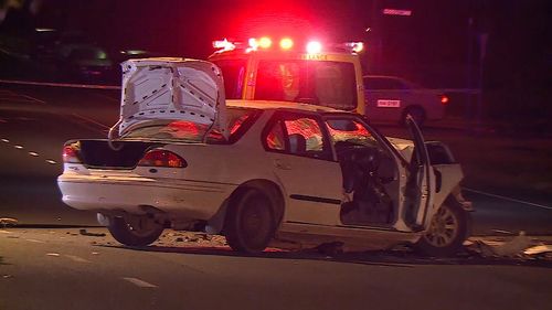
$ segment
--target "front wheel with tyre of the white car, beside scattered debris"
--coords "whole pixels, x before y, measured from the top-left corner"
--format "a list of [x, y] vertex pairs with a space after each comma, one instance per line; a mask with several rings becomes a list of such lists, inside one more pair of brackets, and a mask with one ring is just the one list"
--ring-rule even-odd
[[461, 250], [468, 234], [469, 214], [454, 202], [445, 202], [435, 213], [416, 248], [429, 256], [452, 256]]

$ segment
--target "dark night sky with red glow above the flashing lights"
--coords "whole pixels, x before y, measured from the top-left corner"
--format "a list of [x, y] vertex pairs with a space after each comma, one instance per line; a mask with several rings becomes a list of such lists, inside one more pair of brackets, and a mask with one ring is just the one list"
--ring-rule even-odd
[[[28, 1], [34, 2], [40, 1]], [[516, 110], [551, 106], [551, 7], [546, 0], [43, 0], [35, 14], [11, 12], [0, 28], [79, 30], [112, 50], [199, 58], [211, 54], [211, 42], [222, 38], [362, 40], [369, 73], [431, 87], [474, 88], [475, 72], [482, 65], [489, 100]], [[385, 8], [412, 14], [384, 15]], [[481, 63], [482, 33], [488, 36]]]

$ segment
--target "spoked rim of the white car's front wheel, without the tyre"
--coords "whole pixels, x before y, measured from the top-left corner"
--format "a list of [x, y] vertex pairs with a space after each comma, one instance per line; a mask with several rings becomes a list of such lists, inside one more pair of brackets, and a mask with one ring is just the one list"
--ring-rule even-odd
[[435, 247], [446, 247], [454, 243], [459, 229], [458, 217], [447, 206], [442, 206], [433, 216], [424, 238]]

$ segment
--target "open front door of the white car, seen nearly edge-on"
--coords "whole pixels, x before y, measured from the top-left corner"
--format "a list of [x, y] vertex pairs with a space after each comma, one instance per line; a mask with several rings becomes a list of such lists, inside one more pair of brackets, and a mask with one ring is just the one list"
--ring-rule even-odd
[[424, 137], [416, 121], [408, 115], [406, 126], [414, 140], [414, 151], [408, 164], [408, 179], [404, 190], [405, 222], [413, 231], [429, 226], [435, 212], [435, 174]]

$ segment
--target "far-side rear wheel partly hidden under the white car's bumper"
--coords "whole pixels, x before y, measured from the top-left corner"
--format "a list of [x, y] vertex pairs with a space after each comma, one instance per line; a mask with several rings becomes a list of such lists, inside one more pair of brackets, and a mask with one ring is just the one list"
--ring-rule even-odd
[[107, 226], [119, 243], [128, 246], [146, 246], [159, 238], [163, 225], [148, 216], [114, 216]]

